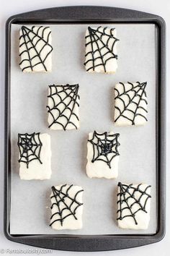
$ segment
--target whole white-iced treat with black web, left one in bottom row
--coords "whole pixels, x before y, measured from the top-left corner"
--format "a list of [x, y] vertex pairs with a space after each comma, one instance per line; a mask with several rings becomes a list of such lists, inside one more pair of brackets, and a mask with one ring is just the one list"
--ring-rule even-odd
[[83, 189], [73, 185], [52, 187], [50, 226], [53, 229], [81, 229]]

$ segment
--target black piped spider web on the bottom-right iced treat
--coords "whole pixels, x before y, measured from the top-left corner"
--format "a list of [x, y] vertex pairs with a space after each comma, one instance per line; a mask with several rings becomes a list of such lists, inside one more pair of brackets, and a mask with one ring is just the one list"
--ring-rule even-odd
[[[120, 187], [120, 192], [117, 194], [118, 201], [117, 204], [119, 205], [119, 210], [117, 210], [118, 218], [117, 220], [122, 220], [123, 218], [131, 217], [135, 221], [135, 225], [138, 225], [138, 222], [136, 221], [135, 215], [138, 213], [138, 211], [143, 210], [143, 212], [147, 213], [146, 211], [146, 203], [148, 202], [148, 199], [151, 198], [151, 195], [148, 194], [147, 189], [151, 187], [148, 185], [144, 190], [140, 189], [140, 186], [142, 184], [139, 184], [138, 187], [133, 187], [133, 184], [127, 185], [122, 184], [121, 182], [118, 183], [118, 187]], [[135, 193], [140, 193], [140, 196], [138, 199], [135, 197]], [[145, 201], [141, 202], [142, 197], [145, 196]], [[133, 202], [128, 202], [130, 200], [133, 200]], [[125, 207], [122, 207], [122, 204], [125, 204]], [[133, 206], [138, 205], [138, 209], [133, 210]], [[128, 210], [129, 214], [122, 216], [124, 210]]]

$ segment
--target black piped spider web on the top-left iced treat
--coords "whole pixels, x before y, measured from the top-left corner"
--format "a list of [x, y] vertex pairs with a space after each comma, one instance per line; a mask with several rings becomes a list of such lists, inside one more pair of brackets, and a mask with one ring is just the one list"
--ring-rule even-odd
[[[48, 32], [46, 39], [44, 37], [45, 30], [47, 29], [49, 29], [49, 27], [40, 26], [37, 31], [35, 31], [35, 26], [32, 26], [31, 28], [26, 26], [21, 27], [22, 35], [19, 37], [19, 40], [23, 38], [24, 42], [19, 44], [19, 48], [24, 46], [24, 50], [19, 54], [19, 56], [27, 53], [27, 59], [22, 59], [19, 63], [20, 66], [24, 62], [27, 63], [27, 66], [23, 67], [22, 71], [24, 71], [24, 69], [31, 69], [31, 71], [33, 71], [34, 67], [37, 65], [42, 65], [43, 69], [46, 72], [48, 71], [48, 68], [45, 66], [45, 61], [53, 51], [53, 47], [49, 43], [51, 31]], [[42, 44], [41, 48], [40, 43]], [[47, 51], [47, 54], [45, 54], [45, 51]]]

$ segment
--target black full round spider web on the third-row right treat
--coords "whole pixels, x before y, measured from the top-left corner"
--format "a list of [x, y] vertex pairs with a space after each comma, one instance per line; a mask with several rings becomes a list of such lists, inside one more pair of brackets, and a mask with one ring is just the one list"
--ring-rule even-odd
[[120, 146], [118, 142], [119, 136], [118, 133], [110, 135], [108, 132], [97, 133], [94, 131], [92, 139], [88, 140], [93, 145], [93, 158], [91, 162], [103, 161], [111, 168], [112, 159], [120, 155], [118, 151]]

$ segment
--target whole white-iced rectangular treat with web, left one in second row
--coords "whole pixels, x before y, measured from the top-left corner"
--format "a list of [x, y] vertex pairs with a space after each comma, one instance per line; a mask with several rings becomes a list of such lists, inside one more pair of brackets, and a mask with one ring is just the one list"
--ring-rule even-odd
[[50, 85], [48, 124], [50, 129], [79, 129], [79, 85]]

